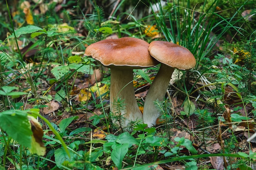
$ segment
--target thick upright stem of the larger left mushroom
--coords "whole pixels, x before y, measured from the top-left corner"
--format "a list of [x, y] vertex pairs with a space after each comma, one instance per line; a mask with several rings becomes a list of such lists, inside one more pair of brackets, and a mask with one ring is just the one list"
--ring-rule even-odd
[[[143, 117], [135, 98], [132, 69], [112, 67], [110, 71], [110, 110], [114, 115], [113, 123], [124, 128], [130, 121], [142, 121]], [[118, 98], [124, 99], [125, 106], [121, 106], [121, 109], [117, 105]], [[117, 121], [119, 118], [121, 121]]]

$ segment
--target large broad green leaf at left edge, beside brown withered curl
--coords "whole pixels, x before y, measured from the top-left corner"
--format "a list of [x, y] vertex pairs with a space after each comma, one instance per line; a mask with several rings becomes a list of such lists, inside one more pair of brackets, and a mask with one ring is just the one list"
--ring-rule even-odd
[[25, 110], [7, 110], [0, 113], [0, 127], [19, 144], [31, 147], [31, 127]]

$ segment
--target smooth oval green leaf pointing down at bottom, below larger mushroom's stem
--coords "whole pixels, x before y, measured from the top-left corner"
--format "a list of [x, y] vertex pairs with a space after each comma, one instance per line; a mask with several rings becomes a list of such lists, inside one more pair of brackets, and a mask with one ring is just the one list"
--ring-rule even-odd
[[124, 156], [128, 152], [129, 144], [119, 144], [111, 152], [111, 159], [115, 163], [118, 169], [122, 168], [122, 161]]

